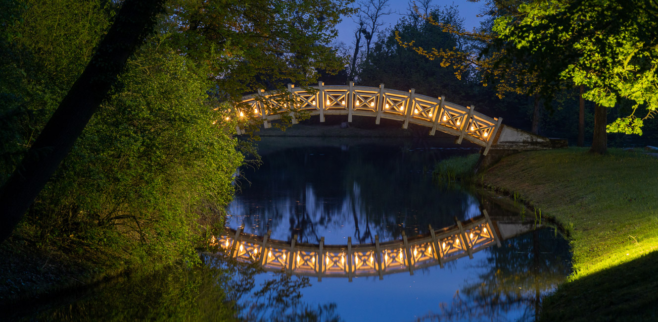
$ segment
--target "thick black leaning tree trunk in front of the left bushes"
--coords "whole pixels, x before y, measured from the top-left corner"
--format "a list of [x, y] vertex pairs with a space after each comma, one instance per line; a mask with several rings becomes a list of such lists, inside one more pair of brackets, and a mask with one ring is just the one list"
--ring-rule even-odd
[[111, 89], [128, 57], [153, 30], [164, 0], [126, 0], [96, 53], [0, 188], [0, 242], [6, 240]]

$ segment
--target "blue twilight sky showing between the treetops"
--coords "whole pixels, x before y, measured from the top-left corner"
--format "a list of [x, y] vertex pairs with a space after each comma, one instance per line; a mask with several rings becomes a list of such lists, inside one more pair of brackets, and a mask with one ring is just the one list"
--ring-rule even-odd
[[[407, 13], [407, 9], [409, 9], [409, 1], [407, 0], [390, 0], [388, 4], [390, 5], [390, 10], [393, 11], [393, 14], [383, 17], [384, 26], [382, 26], [382, 31], [394, 26], [395, 22], [397, 22], [403, 14]], [[432, 5], [438, 7], [454, 5], [457, 7], [459, 14], [462, 18], [465, 18], [464, 26], [467, 30], [472, 30], [472, 28], [479, 26], [480, 21], [482, 21], [482, 18], [477, 16], [481, 11], [481, 3], [472, 3], [466, 0], [434, 0], [432, 1]], [[352, 42], [354, 41], [355, 28], [357, 28], [357, 24], [354, 22], [353, 18], [344, 17], [343, 21], [338, 24], [338, 39], [336, 41], [338, 43], [342, 41], [347, 46], [353, 45]]]

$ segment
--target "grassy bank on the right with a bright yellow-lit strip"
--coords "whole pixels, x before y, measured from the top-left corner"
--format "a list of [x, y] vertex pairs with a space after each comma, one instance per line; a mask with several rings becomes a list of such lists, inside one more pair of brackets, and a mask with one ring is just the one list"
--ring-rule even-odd
[[544, 321], [658, 319], [658, 159], [611, 149], [519, 153], [486, 184], [554, 217], [570, 234], [574, 273], [545, 299]]

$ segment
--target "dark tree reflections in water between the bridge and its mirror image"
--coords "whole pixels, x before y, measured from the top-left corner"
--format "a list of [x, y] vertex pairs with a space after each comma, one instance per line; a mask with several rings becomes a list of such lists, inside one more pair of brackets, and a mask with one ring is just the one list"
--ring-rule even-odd
[[356, 243], [374, 242], [375, 234], [397, 238], [402, 230], [415, 235], [428, 224], [451, 226], [478, 201], [463, 190], [437, 194], [422, 169], [444, 154], [405, 146], [284, 149], [263, 156], [257, 173], [247, 174], [253, 185], [230, 212], [247, 232], [263, 236], [272, 229], [276, 235], [278, 228], [280, 239], [297, 234], [299, 242], [313, 244], [343, 225], [353, 227]]

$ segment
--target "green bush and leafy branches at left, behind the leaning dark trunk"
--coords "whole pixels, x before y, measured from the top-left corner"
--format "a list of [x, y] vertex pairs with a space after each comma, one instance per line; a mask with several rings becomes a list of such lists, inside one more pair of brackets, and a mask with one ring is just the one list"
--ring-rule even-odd
[[[42, 249], [88, 254], [99, 267], [197, 261], [193, 246], [204, 229], [222, 224], [243, 163], [233, 137], [236, 110], [218, 100], [311, 81], [316, 68], [336, 70], [341, 59], [327, 44], [350, 2], [170, 1], [157, 33], [129, 60], [18, 234]], [[0, 14], [0, 184], [80, 76], [119, 6], [7, 3]]]

